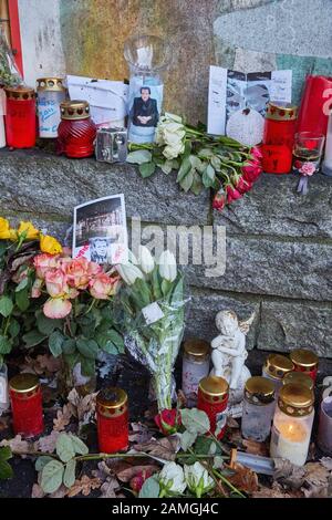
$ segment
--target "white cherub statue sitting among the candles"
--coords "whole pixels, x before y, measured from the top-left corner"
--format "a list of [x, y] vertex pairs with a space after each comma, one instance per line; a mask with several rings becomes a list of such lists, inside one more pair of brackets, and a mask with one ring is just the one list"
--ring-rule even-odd
[[239, 322], [234, 311], [220, 311], [216, 315], [216, 326], [220, 334], [211, 341], [214, 363], [211, 374], [225, 377], [231, 391], [242, 391], [250, 377], [250, 372], [245, 366], [248, 356], [246, 335], [253, 319], [255, 313], [249, 320]]

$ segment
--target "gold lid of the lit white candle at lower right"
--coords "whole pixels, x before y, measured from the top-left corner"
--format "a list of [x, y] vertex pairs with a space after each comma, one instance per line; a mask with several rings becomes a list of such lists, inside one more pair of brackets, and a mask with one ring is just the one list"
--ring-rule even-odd
[[313, 410], [313, 392], [302, 384], [289, 383], [280, 389], [278, 406], [287, 415], [309, 415]]

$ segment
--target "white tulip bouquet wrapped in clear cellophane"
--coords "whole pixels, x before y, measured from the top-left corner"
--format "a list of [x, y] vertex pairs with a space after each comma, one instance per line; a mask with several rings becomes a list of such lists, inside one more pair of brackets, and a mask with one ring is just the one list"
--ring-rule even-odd
[[118, 305], [125, 346], [151, 372], [159, 412], [169, 409], [188, 301], [184, 275], [169, 251], [155, 262], [146, 248], [141, 248], [138, 264], [131, 262], [116, 269], [125, 282]]

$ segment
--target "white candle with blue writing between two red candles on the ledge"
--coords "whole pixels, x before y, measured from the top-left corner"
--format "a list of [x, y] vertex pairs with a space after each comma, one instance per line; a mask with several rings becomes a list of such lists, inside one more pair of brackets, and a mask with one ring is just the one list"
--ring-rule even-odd
[[42, 138], [58, 137], [60, 125], [60, 104], [65, 101], [66, 89], [61, 77], [37, 80], [39, 135]]

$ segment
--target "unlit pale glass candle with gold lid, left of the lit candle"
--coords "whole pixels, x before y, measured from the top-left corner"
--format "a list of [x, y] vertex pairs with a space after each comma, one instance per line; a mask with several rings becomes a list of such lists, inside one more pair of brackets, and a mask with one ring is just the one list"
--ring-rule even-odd
[[246, 439], [262, 443], [271, 431], [274, 384], [267, 377], [249, 377], [245, 386], [241, 433]]

